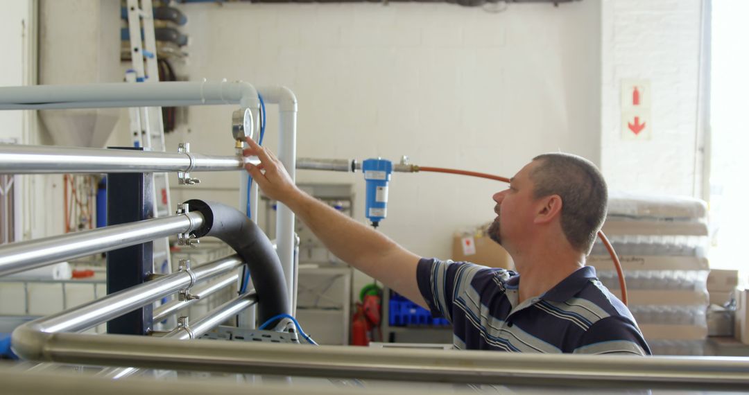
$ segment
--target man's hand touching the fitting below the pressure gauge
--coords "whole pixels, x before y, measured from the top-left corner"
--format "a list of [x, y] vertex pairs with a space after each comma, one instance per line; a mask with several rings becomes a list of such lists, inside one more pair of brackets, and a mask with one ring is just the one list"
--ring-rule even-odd
[[242, 151], [243, 156], [257, 156], [260, 165], [248, 163], [244, 168], [267, 197], [285, 203], [294, 193], [300, 192], [281, 161], [270, 150], [259, 146], [252, 138], [246, 140], [249, 147]]

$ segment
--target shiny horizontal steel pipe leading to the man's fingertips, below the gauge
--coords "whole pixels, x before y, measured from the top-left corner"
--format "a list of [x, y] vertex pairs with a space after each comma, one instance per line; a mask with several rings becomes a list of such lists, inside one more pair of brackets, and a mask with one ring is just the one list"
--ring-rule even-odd
[[256, 157], [0, 144], [0, 174], [236, 171]]

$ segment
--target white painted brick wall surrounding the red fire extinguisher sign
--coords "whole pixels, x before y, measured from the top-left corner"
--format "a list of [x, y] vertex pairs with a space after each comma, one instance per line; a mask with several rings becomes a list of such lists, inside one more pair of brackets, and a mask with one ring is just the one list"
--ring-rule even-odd
[[[610, 188], [692, 195], [700, 0], [604, 0], [601, 165]], [[622, 79], [650, 79], [652, 140], [622, 141]]]

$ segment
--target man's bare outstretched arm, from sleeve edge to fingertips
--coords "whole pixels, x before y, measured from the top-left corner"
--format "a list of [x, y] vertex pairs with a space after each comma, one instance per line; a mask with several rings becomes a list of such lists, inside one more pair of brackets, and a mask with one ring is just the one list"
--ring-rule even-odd
[[426, 306], [416, 284], [419, 257], [388, 237], [307, 195], [291, 181], [270, 150], [247, 139], [244, 156], [258, 156], [260, 165], [246, 169], [267, 197], [288, 206], [336, 257], [382, 281], [413, 302]]

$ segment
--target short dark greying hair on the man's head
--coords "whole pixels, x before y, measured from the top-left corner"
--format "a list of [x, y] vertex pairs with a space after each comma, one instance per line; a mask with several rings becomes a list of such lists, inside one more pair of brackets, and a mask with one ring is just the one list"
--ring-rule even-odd
[[587, 159], [568, 153], [545, 153], [530, 174], [533, 197], [562, 197], [562, 230], [573, 248], [589, 254], [606, 219], [608, 190], [601, 171]]

